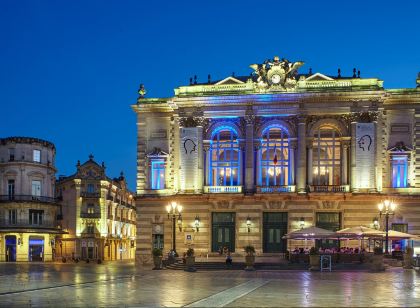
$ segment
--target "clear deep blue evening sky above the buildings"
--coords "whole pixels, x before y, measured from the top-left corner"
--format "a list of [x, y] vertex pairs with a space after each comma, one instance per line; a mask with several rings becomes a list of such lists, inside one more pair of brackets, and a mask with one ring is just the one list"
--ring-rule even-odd
[[93, 153], [134, 189], [139, 83], [168, 97], [279, 55], [414, 87], [419, 20], [419, 1], [3, 0], [0, 137], [54, 142], [59, 174]]

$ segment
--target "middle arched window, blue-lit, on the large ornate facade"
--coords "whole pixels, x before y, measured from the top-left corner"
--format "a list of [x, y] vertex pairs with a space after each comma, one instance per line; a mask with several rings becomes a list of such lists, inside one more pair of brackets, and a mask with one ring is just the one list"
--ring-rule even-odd
[[260, 151], [260, 185], [290, 185], [289, 140], [280, 127], [271, 127], [263, 133]]

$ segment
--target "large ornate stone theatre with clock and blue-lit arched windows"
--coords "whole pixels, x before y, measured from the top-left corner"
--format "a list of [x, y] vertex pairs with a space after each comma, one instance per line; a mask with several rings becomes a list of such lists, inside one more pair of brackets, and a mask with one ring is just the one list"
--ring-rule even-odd
[[420, 234], [420, 76], [416, 88], [385, 89], [356, 70], [300, 74], [302, 65], [275, 57], [250, 76], [139, 97], [139, 262], [171, 249], [173, 201], [183, 206], [177, 251], [199, 255], [247, 244], [282, 253], [302, 245], [282, 236], [303, 226], [373, 227], [389, 198], [390, 229]]

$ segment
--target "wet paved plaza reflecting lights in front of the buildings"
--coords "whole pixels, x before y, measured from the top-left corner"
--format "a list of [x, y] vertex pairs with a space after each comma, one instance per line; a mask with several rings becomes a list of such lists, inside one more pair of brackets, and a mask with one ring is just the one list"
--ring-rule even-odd
[[420, 306], [418, 272], [184, 271], [0, 263], [1, 307]]

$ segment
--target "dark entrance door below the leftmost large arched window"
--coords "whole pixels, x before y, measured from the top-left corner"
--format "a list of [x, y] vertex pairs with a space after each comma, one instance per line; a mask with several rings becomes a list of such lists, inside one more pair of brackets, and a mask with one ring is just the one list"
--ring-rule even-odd
[[235, 251], [235, 213], [213, 213], [211, 250], [218, 252], [227, 247]]

